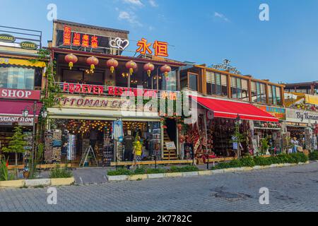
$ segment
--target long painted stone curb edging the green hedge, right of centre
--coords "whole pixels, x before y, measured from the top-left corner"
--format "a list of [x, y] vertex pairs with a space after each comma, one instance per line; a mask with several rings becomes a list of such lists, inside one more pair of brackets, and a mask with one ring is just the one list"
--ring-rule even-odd
[[106, 176], [108, 182], [118, 182], [118, 181], [136, 181], [136, 180], [143, 180], [143, 179], [160, 179], [160, 178], [172, 178], [172, 177], [197, 177], [197, 176], [211, 176], [213, 174], [223, 174], [226, 172], [242, 172], [242, 171], [252, 171], [254, 169], [270, 169], [270, 168], [279, 168], [279, 167], [290, 167], [296, 165], [305, 165], [309, 164], [309, 162], [300, 162], [298, 164], [273, 164], [273, 165], [264, 165], [264, 166], [254, 166], [254, 167], [239, 167], [239, 168], [228, 168], [228, 169], [215, 169], [215, 170], [203, 170], [198, 172], [172, 172], [172, 173], [165, 173], [165, 174], [138, 174], [138, 175], [131, 175], [131, 176]]

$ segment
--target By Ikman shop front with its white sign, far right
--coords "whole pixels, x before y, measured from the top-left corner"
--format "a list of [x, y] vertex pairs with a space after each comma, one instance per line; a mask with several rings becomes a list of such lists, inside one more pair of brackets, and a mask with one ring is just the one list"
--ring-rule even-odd
[[286, 108], [286, 129], [290, 139], [298, 141], [305, 150], [317, 150], [317, 136], [314, 129], [318, 121], [318, 112]]

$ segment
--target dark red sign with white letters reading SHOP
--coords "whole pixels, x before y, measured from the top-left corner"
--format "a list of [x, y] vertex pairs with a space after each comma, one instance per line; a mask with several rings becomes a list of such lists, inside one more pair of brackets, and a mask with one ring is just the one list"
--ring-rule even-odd
[[0, 98], [20, 100], [40, 100], [40, 90], [15, 90], [0, 88]]

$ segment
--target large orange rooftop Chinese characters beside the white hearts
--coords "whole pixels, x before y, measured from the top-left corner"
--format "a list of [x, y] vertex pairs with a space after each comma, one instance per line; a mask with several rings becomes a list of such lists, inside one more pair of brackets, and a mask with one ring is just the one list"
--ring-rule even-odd
[[[160, 41], [155, 41], [153, 43], [153, 49], [155, 50], [155, 56], [157, 57], [168, 57], [167, 53], [167, 42], [160, 42]], [[150, 49], [151, 43], [148, 43], [148, 41], [144, 38], [139, 40], [137, 42], [137, 47], [138, 49], [136, 52], [139, 52], [140, 54], [153, 54], [153, 51]]]

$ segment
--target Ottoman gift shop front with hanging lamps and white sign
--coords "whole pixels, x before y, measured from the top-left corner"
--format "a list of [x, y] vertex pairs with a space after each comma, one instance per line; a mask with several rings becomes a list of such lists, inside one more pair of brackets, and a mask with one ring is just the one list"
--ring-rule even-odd
[[[173, 151], [177, 157], [177, 144], [172, 140], [177, 126], [168, 125], [175, 119], [165, 114], [160, 116], [157, 99], [137, 104], [139, 94], [149, 100], [149, 96], [161, 97], [167, 91], [130, 88], [119, 95], [117, 90], [124, 88], [96, 86], [92, 90], [99, 88], [99, 93], [78, 95], [67, 93], [66, 87], [72, 84], [61, 85], [64, 93], [55, 97], [54, 107], [47, 109], [51, 120], [45, 133], [45, 162], [110, 166], [121, 162], [170, 160], [166, 152], [170, 154], [167, 143], [171, 142], [175, 144]], [[83, 85], [79, 86], [83, 90]], [[93, 161], [84, 156], [88, 151]]]

